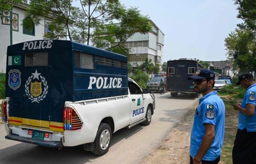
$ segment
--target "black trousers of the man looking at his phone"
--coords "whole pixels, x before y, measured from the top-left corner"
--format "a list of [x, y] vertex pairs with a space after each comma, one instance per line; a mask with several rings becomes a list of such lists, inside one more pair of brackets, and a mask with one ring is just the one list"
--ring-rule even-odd
[[232, 160], [233, 164], [256, 164], [256, 132], [237, 129]]

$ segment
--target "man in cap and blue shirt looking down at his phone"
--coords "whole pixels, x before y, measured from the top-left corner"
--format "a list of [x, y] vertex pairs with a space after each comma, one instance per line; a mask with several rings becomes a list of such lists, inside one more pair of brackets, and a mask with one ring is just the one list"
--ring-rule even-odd
[[241, 104], [232, 104], [239, 110], [238, 129], [232, 151], [233, 164], [256, 164], [256, 84], [252, 74], [246, 73], [238, 77], [236, 85], [246, 89]]

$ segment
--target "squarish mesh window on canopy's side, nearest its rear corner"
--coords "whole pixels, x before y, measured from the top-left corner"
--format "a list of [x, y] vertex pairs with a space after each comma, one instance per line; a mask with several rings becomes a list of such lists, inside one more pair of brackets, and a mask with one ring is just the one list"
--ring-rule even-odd
[[75, 67], [83, 69], [94, 69], [95, 57], [90, 54], [75, 51]]

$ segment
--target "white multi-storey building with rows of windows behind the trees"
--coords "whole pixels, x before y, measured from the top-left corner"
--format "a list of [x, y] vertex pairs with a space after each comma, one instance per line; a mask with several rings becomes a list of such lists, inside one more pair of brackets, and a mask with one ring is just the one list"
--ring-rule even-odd
[[153, 28], [147, 34], [136, 32], [126, 42], [125, 46], [130, 48], [127, 60], [132, 67], [141, 65], [146, 58], [152, 59], [153, 63], [163, 64], [164, 34], [153, 23]]

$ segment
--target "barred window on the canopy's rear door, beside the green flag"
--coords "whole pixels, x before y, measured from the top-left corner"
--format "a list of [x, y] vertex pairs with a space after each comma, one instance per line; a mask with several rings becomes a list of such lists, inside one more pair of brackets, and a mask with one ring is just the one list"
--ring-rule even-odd
[[34, 52], [25, 54], [25, 66], [49, 66], [48, 52]]

